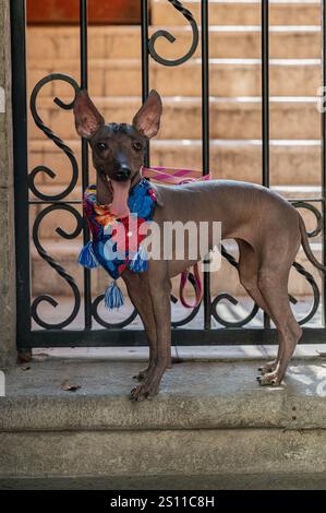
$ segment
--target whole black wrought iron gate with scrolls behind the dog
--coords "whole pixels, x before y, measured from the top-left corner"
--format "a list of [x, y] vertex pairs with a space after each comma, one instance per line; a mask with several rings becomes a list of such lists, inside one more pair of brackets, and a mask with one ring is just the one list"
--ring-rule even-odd
[[[178, 67], [189, 60], [195, 52], [201, 40], [202, 46], [202, 141], [203, 141], [203, 172], [209, 169], [209, 59], [208, 59], [208, 1], [201, 2], [202, 29], [194, 20], [192, 13], [177, 0], [167, 0], [180, 11], [191, 28], [192, 45], [188, 53], [176, 60], [167, 60], [156, 51], [156, 40], [166, 38], [170, 43], [174, 37], [167, 31], [157, 31], [149, 37], [148, 33], [148, 2], [140, 0], [142, 4], [142, 86], [143, 100], [147, 97], [149, 87], [149, 59], [154, 59], [161, 65]], [[67, 144], [61, 141], [49, 127], [46, 127], [40, 119], [36, 100], [40, 90], [53, 81], [63, 81], [71, 85], [74, 94], [80, 87], [87, 88], [87, 0], [81, 0], [81, 83], [77, 84], [72, 77], [63, 74], [50, 74], [35, 85], [31, 97], [31, 109], [37, 127], [64, 152], [72, 167], [72, 179], [64, 191], [48, 195], [43, 193], [37, 186], [37, 176], [40, 172], [55, 178], [56, 174], [45, 166], [38, 166], [31, 172], [27, 168], [27, 102], [26, 102], [26, 50], [25, 50], [25, 1], [16, 0], [11, 2], [12, 19], [12, 58], [13, 58], [13, 123], [14, 123], [14, 165], [15, 165], [15, 224], [16, 224], [16, 265], [17, 265], [17, 344], [20, 348], [31, 347], [59, 347], [59, 346], [120, 346], [120, 345], [143, 345], [146, 344], [144, 332], [141, 329], [130, 329], [130, 323], [135, 319], [136, 312], [132, 312], [128, 319], [109, 323], [99, 315], [98, 306], [102, 301], [102, 296], [93, 298], [90, 288], [90, 274], [84, 271], [83, 291], [79, 289], [74, 278], [56, 262], [43, 248], [39, 238], [39, 226], [41, 220], [53, 211], [64, 211], [75, 218], [75, 229], [67, 232], [61, 228], [57, 229], [58, 236], [64, 239], [73, 239], [83, 232], [84, 242], [88, 241], [89, 234], [84, 225], [76, 205], [79, 201], [70, 200], [69, 194], [74, 189], [79, 176], [82, 177], [83, 189], [88, 184], [88, 148], [85, 141], [82, 142], [82, 165], [79, 168], [76, 158]], [[325, 0], [323, 1], [323, 85], [326, 85], [326, 43], [325, 43]], [[263, 162], [262, 162], [262, 183], [269, 187], [269, 51], [268, 51], [268, 1], [262, 0], [262, 139], [263, 139]], [[73, 102], [69, 105], [59, 98], [55, 98], [58, 108], [72, 109]], [[325, 163], [326, 163], [326, 118], [322, 115], [322, 196], [314, 199], [291, 200], [297, 207], [307, 208], [316, 216], [316, 228], [309, 234], [310, 237], [321, 235], [323, 244], [325, 240]], [[149, 164], [149, 152], [146, 156], [146, 165]], [[237, 178], [237, 177], [234, 177]], [[31, 200], [29, 191], [33, 192]], [[321, 205], [321, 210], [315, 207], [315, 203]], [[31, 248], [29, 248], [29, 208], [32, 205], [41, 206], [40, 213], [36, 216], [33, 225], [33, 241], [38, 254], [55, 269], [58, 275], [71, 287], [74, 305], [69, 317], [60, 323], [45, 321], [39, 314], [39, 305], [47, 302], [52, 308], [58, 305], [56, 299], [45, 294], [32, 300], [31, 295]], [[237, 261], [232, 255], [222, 250], [224, 256], [230, 265], [237, 266]], [[325, 251], [323, 251], [324, 265], [326, 264]], [[306, 324], [317, 311], [321, 300], [318, 287], [314, 277], [305, 271], [299, 263], [293, 264], [295, 270], [310, 283], [313, 291], [313, 305], [309, 314], [300, 321]], [[36, 276], [37, 279], [37, 276]], [[325, 319], [325, 281], [323, 281], [323, 313]], [[84, 300], [82, 300], [84, 297]], [[201, 329], [189, 329], [188, 323], [197, 314], [198, 308], [179, 322], [173, 323], [172, 341], [180, 345], [193, 344], [270, 344], [276, 342], [276, 333], [269, 326], [269, 320], [265, 317], [261, 327], [245, 327], [245, 325], [257, 314], [258, 308], [253, 307], [252, 311], [241, 320], [230, 322], [222, 319], [217, 307], [222, 299], [237, 305], [237, 299], [227, 294], [219, 294], [210, 297], [209, 273], [204, 275], [204, 321]], [[176, 301], [172, 298], [172, 301]], [[295, 302], [294, 298], [291, 298]], [[82, 330], [74, 330], [71, 324], [80, 310], [83, 309], [84, 326]], [[213, 329], [212, 320], [215, 319], [221, 327]], [[101, 329], [94, 329], [94, 321]], [[33, 326], [33, 322], [35, 327]], [[325, 342], [325, 327], [303, 327], [304, 335], [301, 342], [316, 343]]]

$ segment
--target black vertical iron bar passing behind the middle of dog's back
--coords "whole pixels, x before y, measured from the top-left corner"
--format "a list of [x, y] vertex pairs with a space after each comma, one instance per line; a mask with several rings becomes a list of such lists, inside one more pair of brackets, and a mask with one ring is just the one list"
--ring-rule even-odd
[[[209, 47], [208, 47], [208, 1], [202, 0], [202, 141], [203, 174], [209, 172]], [[210, 329], [210, 274], [204, 273], [204, 327]]]

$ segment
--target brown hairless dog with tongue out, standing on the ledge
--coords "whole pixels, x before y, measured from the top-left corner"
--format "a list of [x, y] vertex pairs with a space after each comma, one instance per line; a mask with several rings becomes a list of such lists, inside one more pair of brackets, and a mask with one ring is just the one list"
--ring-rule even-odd
[[[97, 202], [113, 201], [125, 210], [128, 193], [141, 180], [146, 143], [160, 124], [160, 96], [152, 91], [132, 124], [109, 123], [88, 94], [81, 91], [74, 105], [79, 134], [88, 140], [97, 171]], [[288, 297], [291, 265], [302, 244], [309, 260], [321, 271], [309, 246], [304, 223], [298, 211], [276, 192], [254, 183], [210, 180], [177, 187], [155, 186], [157, 206], [154, 220], [186, 223], [221, 222], [221, 238], [239, 246], [240, 282], [252, 299], [273, 320], [278, 332], [278, 355], [264, 366], [257, 379], [262, 385], [279, 385], [285, 377], [302, 331]], [[209, 247], [215, 246], [209, 234]], [[198, 258], [200, 259], [200, 258]], [[140, 384], [131, 398], [142, 401], [157, 394], [161, 378], [171, 365], [171, 277], [194, 264], [189, 260], [150, 260], [147, 271], [124, 270], [122, 278], [140, 313], [149, 342], [149, 365], [138, 374]]]

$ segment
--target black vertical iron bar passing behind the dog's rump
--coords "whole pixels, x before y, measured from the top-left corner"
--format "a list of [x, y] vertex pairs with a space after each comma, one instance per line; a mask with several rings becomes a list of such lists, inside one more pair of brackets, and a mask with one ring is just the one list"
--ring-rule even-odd
[[[269, 2], [262, 0], [262, 157], [264, 187], [269, 187]], [[264, 313], [264, 327], [270, 327], [270, 320]]]

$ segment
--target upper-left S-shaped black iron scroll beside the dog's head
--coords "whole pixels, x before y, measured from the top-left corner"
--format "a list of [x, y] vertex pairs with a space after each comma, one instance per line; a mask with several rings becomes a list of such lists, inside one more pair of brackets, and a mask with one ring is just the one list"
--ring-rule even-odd
[[41, 200], [41, 201], [60, 201], [60, 200], [63, 200], [65, 196], [68, 196], [73, 191], [73, 189], [75, 188], [75, 186], [77, 183], [77, 179], [79, 179], [79, 165], [77, 165], [77, 162], [76, 162], [76, 158], [74, 156], [73, 151], [69, 146], [67, 146], [67, 144], [64, 144], [64, 142], [58, 135], [56, 135], [49, 127], [47, 127], [44, 123], [44, 121], [41, 120], [41, 118], [39, 117], [38, 111], [37, 111], [37, 107], [36, 107], [37, 96], [38, 96], [40, 90], [45, 85], [49, 84], [52, 81], [62, 81], [62, 82], [65, 82], [65, 83], [70, 84], [73, 87], [74, 98], [70, 104], [64, 104], [61, 99], [59, 99], [57, 97], [53, 99], [55, 104], [58, 105], [60, 108], [62, 108], [64, 110], [71, 110], [73, 108], [76, 95], [80, 91], [79, 84], [76, 83], [76, 81], [74, 79], [72, 79], [69, 75], [65, 75], [65, 74], [62, 74], [62, 73], [51, 73], [51, 74], [45, 76], [44, 79], [41, 79], [35, 85], [35, 87], [32, 92], [31, 103], [29, 103], [31, 112], [32, 112], [33, 119], [35, 121], [35, 124], [45, 133], [45, 135], [48, 139], [50, 139], [60, 150], [62, 150], [62, 152], [69, 158], [71, 167], [72, 167], [72, 178], [71, 178], [71, 181], [70, 181], [69, 186], [65, 188], [64, 191], [60, 192], [59, 194], [45, 194], [45, 193], [40, 192], [37, 189], [36, 184], [35, 184], [35, 179], [36, 179], [37, 175], [40, 174], [40, 172], [45, 172], [51, 179], [55, 179], [57, 175], [56, 175], [55, 171], [52, 171], [52, 169], [48, 168], [47, 166], [37, 166], [37, 167], [35, 167], [29, 172], [28, 187], [29, 187], [31, 191], [34, 193], [34, 195], [36, 198], [38, 198], [39, 200]]

